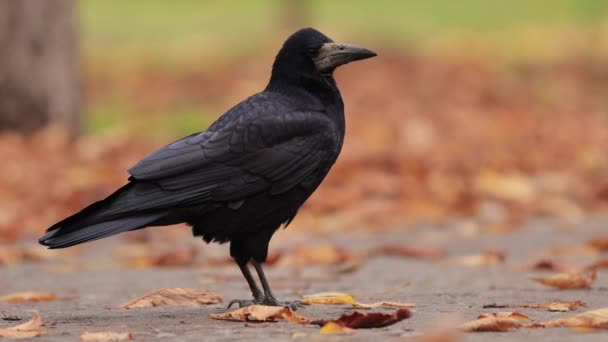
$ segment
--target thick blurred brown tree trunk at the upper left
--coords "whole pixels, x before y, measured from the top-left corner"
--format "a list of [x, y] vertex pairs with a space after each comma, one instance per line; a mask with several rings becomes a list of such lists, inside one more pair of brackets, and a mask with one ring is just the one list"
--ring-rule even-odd
[[73, 0], [0, 0], [0, 130], [80, 131]]

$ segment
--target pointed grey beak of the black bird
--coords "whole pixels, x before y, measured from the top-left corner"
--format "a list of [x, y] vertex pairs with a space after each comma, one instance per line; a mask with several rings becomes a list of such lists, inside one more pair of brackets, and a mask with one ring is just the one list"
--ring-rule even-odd
[[319, 49], [319, 54], [313, 58], [313, 62], [317, 70], [327, 72], [340, 65], [376, 55], [372, 50], [354, 44], [325, 43]]

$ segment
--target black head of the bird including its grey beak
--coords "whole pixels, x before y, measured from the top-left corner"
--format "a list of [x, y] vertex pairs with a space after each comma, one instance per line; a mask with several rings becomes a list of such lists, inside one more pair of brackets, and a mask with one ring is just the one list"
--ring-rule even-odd
[[304, 28], [287, 38], [275, 59], [273, 74], [331, 75], [341, 65], [374, 56], [369, 49], [335, 43], [313, 28]]

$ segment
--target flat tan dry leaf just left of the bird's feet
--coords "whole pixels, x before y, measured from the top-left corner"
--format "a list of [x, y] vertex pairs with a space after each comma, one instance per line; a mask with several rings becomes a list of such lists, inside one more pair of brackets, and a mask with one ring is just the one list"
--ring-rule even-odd
[[154, 306], [200, 306], [222, 303], [224, 299], [209, 290], [189, 288], [166, 288], [148, 293], [129, 303], [119, 306], [123, 309], [145, 308]]

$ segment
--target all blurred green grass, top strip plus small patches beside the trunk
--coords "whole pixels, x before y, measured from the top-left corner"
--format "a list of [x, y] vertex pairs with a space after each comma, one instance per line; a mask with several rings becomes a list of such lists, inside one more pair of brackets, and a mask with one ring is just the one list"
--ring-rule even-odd
[[[297, 28], [282, 23], [280, 2], [82, 0], [79, 12], [85, 62], [97, 70], [126, 75], [150, 65], [200, 70], [251, 54], [270, 58], [285, 36]], [[599, 36], [601, 41], [608, 36], [607, 0], [310, 3], [304, 25], [337, 40], [370, 45], [381, 53], [408, 49], [439, 56], [445, 51], [447, 56], [456, 51], [538, 61], [577, 49], [602, 49], [602, 44], [588, 38]], [[117, 91], [107, 98], [108, 103], [90, 108], [89, 131], [125, 122], [134, 126], [129, 120], [136, 109], [128, 95]], [[206, 127], [217, 114], [216, 108], [173, 108], [167, 115], [146, 118], [143, 125], [151, 130], [147, 134], [158, 131], [178, 136], [191, 133], [193, 127]]]

